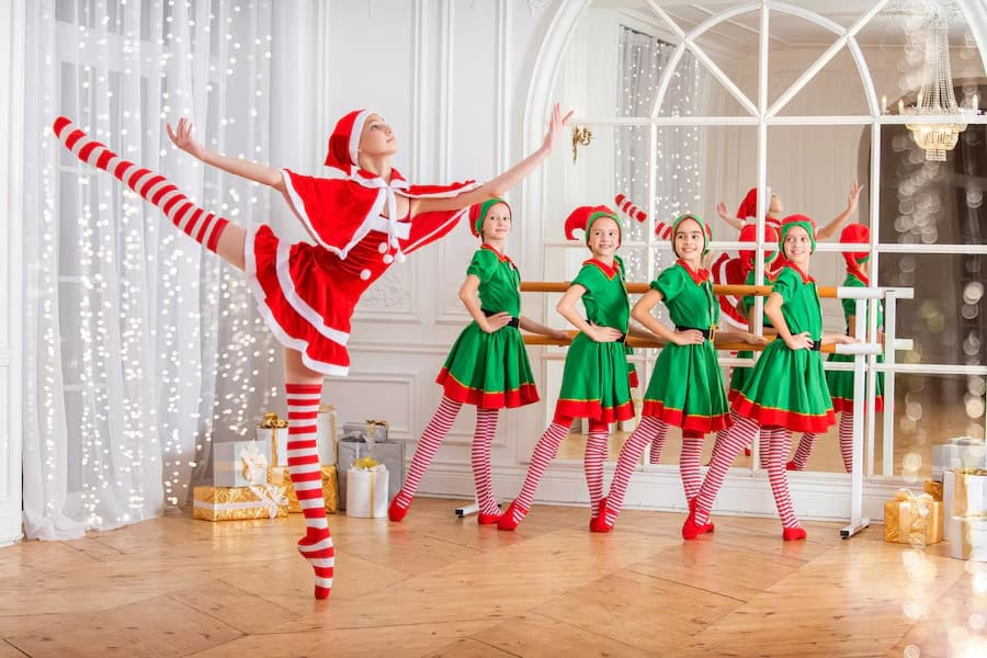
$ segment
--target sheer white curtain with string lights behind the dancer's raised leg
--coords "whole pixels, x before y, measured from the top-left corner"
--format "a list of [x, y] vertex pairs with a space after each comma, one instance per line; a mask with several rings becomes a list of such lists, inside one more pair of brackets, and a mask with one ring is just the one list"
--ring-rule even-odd
[[284, 67], [279, 47], [300, 29], [285, 20], [297, 3], [279, 3], [276, 22], [272, 4], [26, 3], [29, 537], [71, 538], [183, 503], [193, 476], [208, 470], [209, 442], [252, 433], [280, 390], [280, 349], [241, 273], [81, 166], [50, 131], [65, 114], [206, 208], [266, 222], [266, 189], [171, 148], [164, 124], [189, 116], [209, 148], [272, 161], [272, 116], [294, 102], [272, 99], [272, 59]]

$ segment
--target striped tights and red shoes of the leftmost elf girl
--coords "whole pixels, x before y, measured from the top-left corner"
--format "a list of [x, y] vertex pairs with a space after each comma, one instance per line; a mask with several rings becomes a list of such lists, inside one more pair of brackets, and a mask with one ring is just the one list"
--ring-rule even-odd
[[[411, 507], [411, 500], [415, 492], [424, 477], [426, 470], [439, 452], [439, 446], [449, 434], [463, 407], [462, 402], [457, 402], [446, 396], [442, 396], [439, 408], [432, 416], [432, 420], [426, 426], [421, 439], [418, 441], [418, 447], [415, 449], [415, 456], [411, 457], [411, 466], [405, 476], [405, 483], [401, 485], [400, 491], [390, 501], [388, 517], [392, 521], [400, 521], [408, 513]], [[494, 433], [497, 431], [497, 417], [499, 409], [476, 409], [476, 431], [473, 435], [473, 479], [476, 485], [476, 500], [479, 503], [480, 513], [478, 521], [481, 524], [494, 523], [500, 518], [500, 508], [497, 507], [497, 500], [494, 498], [494, 484], [490, 474], [490, 444], [494, 441]]]

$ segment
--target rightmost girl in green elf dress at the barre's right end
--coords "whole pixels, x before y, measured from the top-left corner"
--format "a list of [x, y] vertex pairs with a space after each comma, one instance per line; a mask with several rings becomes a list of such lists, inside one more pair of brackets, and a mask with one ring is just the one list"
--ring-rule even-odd
[[768, 477], [782, 520], [782, 536], [785, 541], [805, 538], [789, 494], [785, 460], [791, 447], [790, 431], [819, 433], [836, 422], [818, 350], [824, 342], [853, 340], [822, 333], [816, 281], [808, 274], [809, 258], [816, 248], [815, 223], [805, 215], [790, 215], [779, 232], [786, 264], [779, 271], [764, 305], [764, 314], [778, 338], [764, 348], [750, 379], [734, 398], [731, 407], [738, 418], [714, 454], [695, 504], [682, 526], [687, 540], [713, 532], [710, 512], [726, 472], [761, 428], [769, 429], [771, 434]]

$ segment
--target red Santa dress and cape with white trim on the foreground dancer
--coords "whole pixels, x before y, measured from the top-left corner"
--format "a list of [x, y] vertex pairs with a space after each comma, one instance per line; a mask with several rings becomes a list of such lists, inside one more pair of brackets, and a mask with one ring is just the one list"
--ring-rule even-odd
[[[344, 376], [347, 341], [360, 296], [395, 261], [404, 261], [453, 229], [466, 209], [397, 218], [396, 195], [455, 196], [478, 186], [409, 185], [397, 170], [390, 181], [363, 170], [315, 178], [284, 170], [292, 209], [317, 242], [290, 245], [266, 225], [251, 229], [245, 246], [248, 286], [271, 331], [302, 352], [314, 371]], [[387, 217], [381, 213], [387, 208]]]

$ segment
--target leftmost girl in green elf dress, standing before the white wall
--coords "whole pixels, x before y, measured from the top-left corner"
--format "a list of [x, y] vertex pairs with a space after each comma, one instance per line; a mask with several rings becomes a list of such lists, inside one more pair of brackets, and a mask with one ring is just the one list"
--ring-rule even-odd
[[466, 280], [460, 287], [460, 299], [473, 321], [460, 333], [439, 373], [436, 382], [443, 388], [442, 401], [418, 442], [401, 490], [390, 501], [392, 521], [400, 521], [408, 513], [422, 476], [464, 404], [476, 407], [472, 458], [480, 508], [477, 522], [488, 525], [500, 520], [490, 475], [490, 444], [497, 431], [497, 417], [502, 408], [538, 401], [519, 329], [568, 338], [565, 331], [521, 315], [521, 275], [503, 252], [511, 232], [511, 208], [507, 202], [490, 198], [475, 205], [469, 209], [469, 219], [473, 235], [484, 241], [473, 254]]

